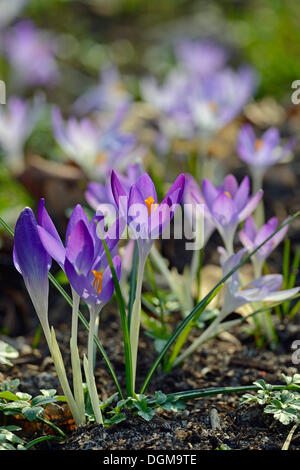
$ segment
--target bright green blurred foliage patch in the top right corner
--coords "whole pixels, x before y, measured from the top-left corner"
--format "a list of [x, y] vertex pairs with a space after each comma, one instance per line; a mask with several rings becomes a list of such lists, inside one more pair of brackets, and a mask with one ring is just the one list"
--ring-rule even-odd
[[230, 9], [229, 26], [245, 58], [260, 74], [259, 95], [289, 98], [291, 83], [300, 78], [300, 2], [239, 3], [244, 6]]

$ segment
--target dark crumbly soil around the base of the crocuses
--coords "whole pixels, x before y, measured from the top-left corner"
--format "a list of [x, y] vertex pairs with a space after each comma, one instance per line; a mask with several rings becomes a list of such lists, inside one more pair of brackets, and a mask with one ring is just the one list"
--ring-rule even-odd
[[[55, 316], [58, 318], [59, 313], [59, 309], [56, 310]], [[58, 341], [66, 361], [69, 355], [67, 328], [65, 323], [60, 323], [59, 329], [57, 328]], [[280, 346], [274, 352], [258, 350], [253, 344], [253, 339], [246, 337], [242, 331], [234, 332], [236, 339], [229, 336], [210, 341], [188, 358], [181, 368], [173, 370], [168, 375], [159, 371], [154, 376], [148, 393], [153, 394], [155, 390], [172, 393], [195, 388], [249, 385], [258, 378], [273, 384], [282, 383], [281, 373], [291, 375], [299, 372], [291, 362], [291, 344], [300, 338], [299, 319], [287, 325], [278, 325], [278, 329]], [[124, 386], [120, 322], [113, 311], [106, 310], [102, 319], [100, 337]], [[80, 343], [83, 348], [86, 339], [86, 332], [81, 330]], [[243, 341], [243, 346], [240, 340]], [[20, 358], [15, 361], [13, 368], [0, 367], [0, 380], [7, 378], [8, 374], [12, 378], [19, 378], [20, 390], [33, 395], [38, 394], [41, 388], [59, 390], [55, 370], [43, 342], [35, 351], [31, 349], [27, 339], [18, 338], [17, 343], [21, 348]], [[138, 387], [154, 357], [151, 340], [142, 334]], [[103, 400], [114, 393], [114, 385], [101, 358], [97, 362], [96, 380]], [[84, 426], [74, 432], [69, 430], [69, 438], [63, 443], [47, 443], [47, 448], [50, 446], [53, 450], [214, 450], [227, 445], [231, 449], [281, 449], [289, 427], [275, 422], [269, 415], [264, 415], [257, 405], [240, 406], [240, 397], [241, 394], [234, 394], [194, 400], [188, 402], [186, 410], [180, 413], [158, 410], [157, 416], [150, 422], [128, 416], [125, 422], [110, 428], [97, 425]], [[212, 414], [217, 415], [216, 420], [212, 421]], [[59, 420], [57, 423], [61, 424]], [[32, 438], [34, 432], [36, 431], [32, 429], [27, 431], [27, 437]], [[297, 431], [290, 449], [300, 449], [300, 433]]]

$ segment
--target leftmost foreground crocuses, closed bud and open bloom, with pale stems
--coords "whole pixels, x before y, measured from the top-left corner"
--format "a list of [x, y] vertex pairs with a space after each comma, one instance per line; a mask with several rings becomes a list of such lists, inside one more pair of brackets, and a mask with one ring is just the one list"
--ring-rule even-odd
[[[88, 356], [84, 356], [86, 382], [97, 423], [103, 423], [93, 370], [93, 338], [96, 334], [97, 318], [103, 306], [111, 299], [114, 283], [105, 255], [102, 236], [108, 249], [113, 251], [118, 242], [116, 223], [106, 232], [102, 214], [96, 214], [91, 222], [80, 205], [76, 206], [66, 231], [66, 243], [61, 238], [41, 200], [38, 221], [31, 209], [21, 213], [15, 231], [14, 263], [23, 275], [25, 285], [41, 322], [57, 375], [76, 424], [85, 422], [85, 402], [80, 358], [77, 348], [78, 308], [80, 299], [89, 307], [90, 325]], [[48, 319], [48, 272], [51, 259], [65, 271], [73, 296], [71, 326], [71, 362], [73, 392], [69, 386], [62, 356], [54, 329]], [[121, 275], [121, 261], [113, 257], [117, 277]]]

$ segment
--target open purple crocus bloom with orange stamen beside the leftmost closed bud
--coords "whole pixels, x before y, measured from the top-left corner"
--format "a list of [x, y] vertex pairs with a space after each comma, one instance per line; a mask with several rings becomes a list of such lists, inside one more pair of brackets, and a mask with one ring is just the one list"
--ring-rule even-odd
[[[73, 210], [66, 231], [66, 246], [40, 200], [38, 233], [47, 252], [66, 272], [73, 289], [89, 305], [100, 311], [110, 300], [114, 285], [101, 240], [103, 237], [112, 251], [118, 242], [118, 220], [105, 232], [104, 217], [96, 214], [91, 222], [78, 204]], [[114, 265], [120, 275], [120, 259], [115, 256]]]

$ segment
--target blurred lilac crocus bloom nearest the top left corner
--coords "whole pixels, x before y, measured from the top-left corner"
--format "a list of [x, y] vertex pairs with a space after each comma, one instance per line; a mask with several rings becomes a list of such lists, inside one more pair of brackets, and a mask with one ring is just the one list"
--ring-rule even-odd
[[5, 51], [19, 80], [27, 86], [53, 86], [59, 72], [50, 35], [29, 20], [17, 23], [5, 37]]

